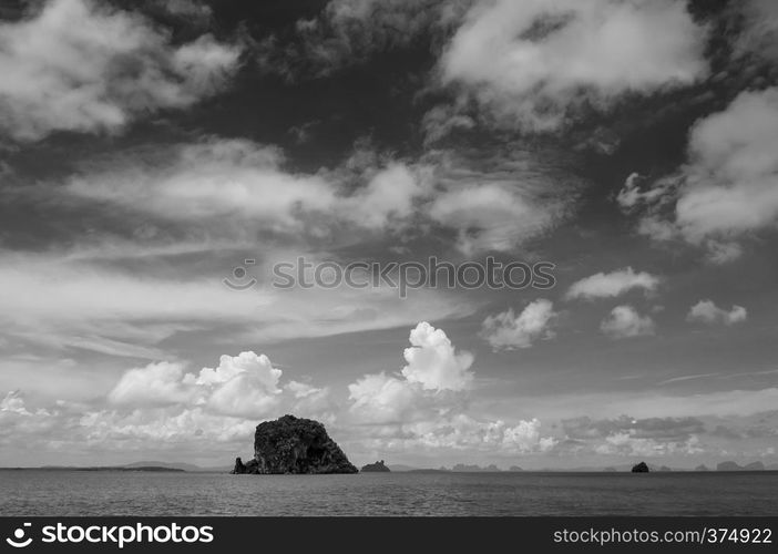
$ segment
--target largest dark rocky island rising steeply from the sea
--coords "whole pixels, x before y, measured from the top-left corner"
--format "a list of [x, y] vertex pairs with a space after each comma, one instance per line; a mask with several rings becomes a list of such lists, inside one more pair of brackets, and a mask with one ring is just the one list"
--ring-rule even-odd
[[325, 427], [310, 419], [284, 416], [257, 425], [254, 459], [235, 460], [233, 474], [357, 473], [359, 470]]

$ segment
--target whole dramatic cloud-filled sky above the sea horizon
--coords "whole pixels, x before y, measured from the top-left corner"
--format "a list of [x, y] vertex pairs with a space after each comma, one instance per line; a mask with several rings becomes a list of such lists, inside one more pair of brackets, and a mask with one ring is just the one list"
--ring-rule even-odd
[[[0, 18], [0, 465], [778, 462], [776, 2]], [[553, 286], [274, 281], [431, 256]]]

